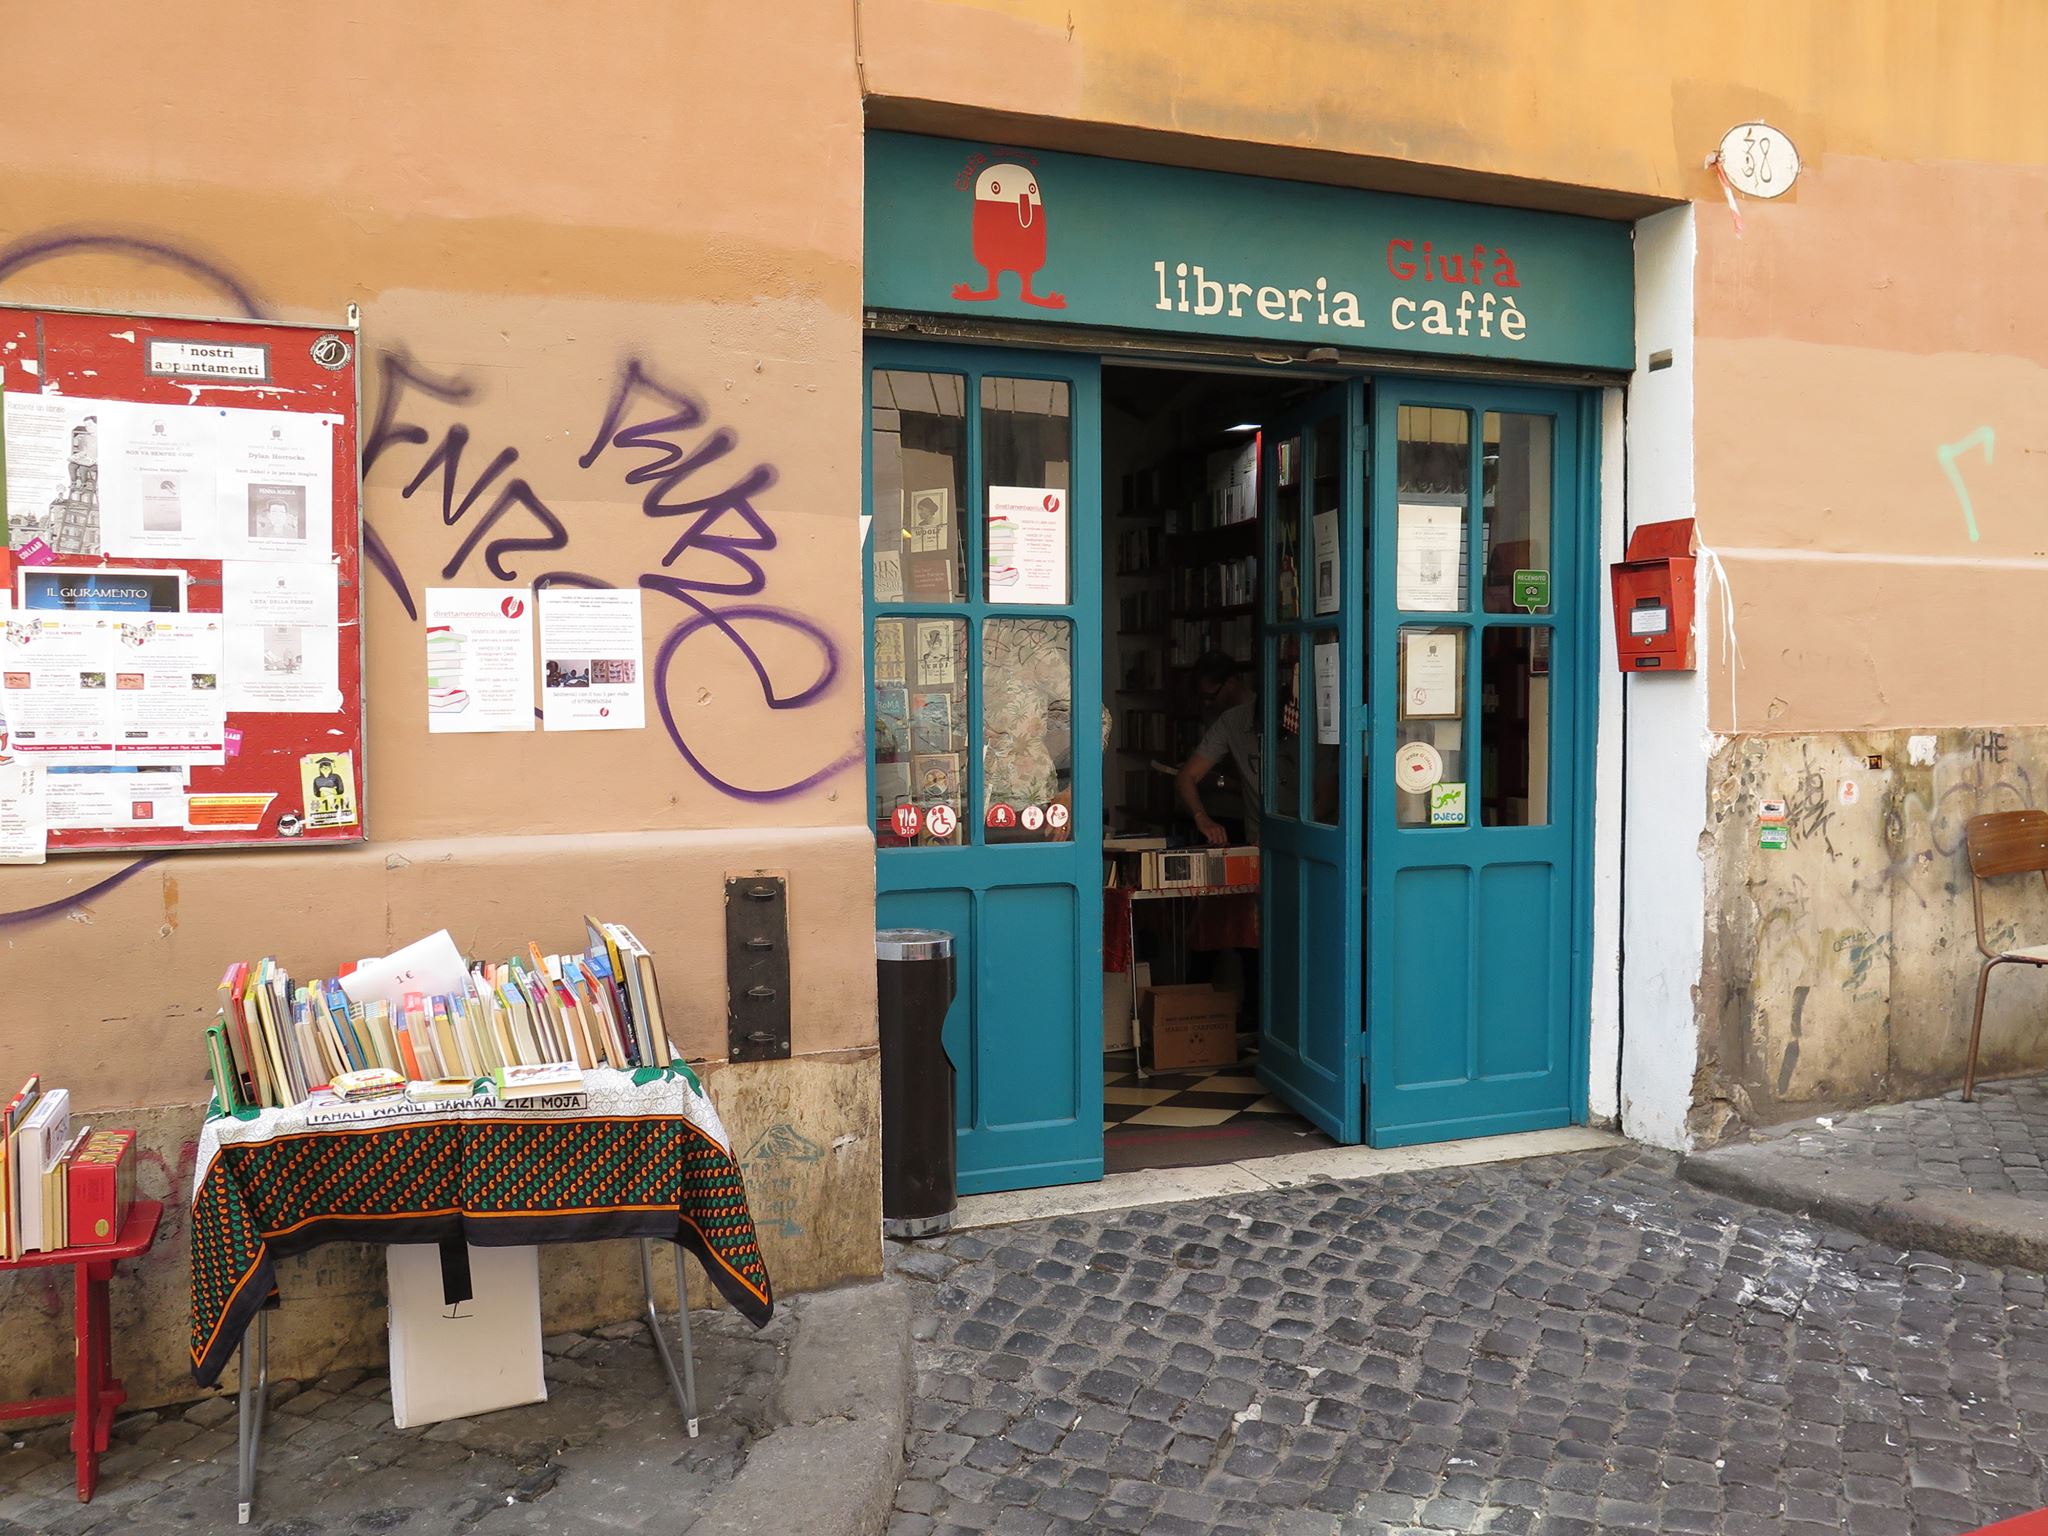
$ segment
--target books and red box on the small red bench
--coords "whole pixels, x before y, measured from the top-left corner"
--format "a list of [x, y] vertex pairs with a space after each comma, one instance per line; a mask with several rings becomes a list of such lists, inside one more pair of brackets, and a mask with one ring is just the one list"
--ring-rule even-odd
[[72, 1094], [31, 1077], [0, 1112], [0, 1260], [113, 1243], [135, 1184], [135, 1133], [72, 1128]]

